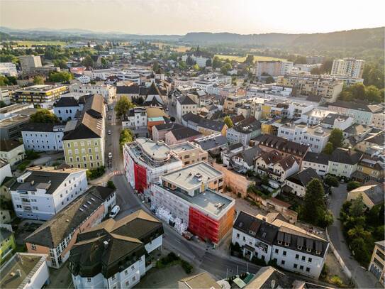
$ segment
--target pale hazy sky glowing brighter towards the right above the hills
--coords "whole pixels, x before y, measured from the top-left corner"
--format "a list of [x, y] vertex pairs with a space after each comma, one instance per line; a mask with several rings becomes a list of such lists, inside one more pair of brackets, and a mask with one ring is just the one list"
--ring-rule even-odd
[[0, 25], [140, 34], [316, 33], [385, 25], [383, 0], [0, 0]]

